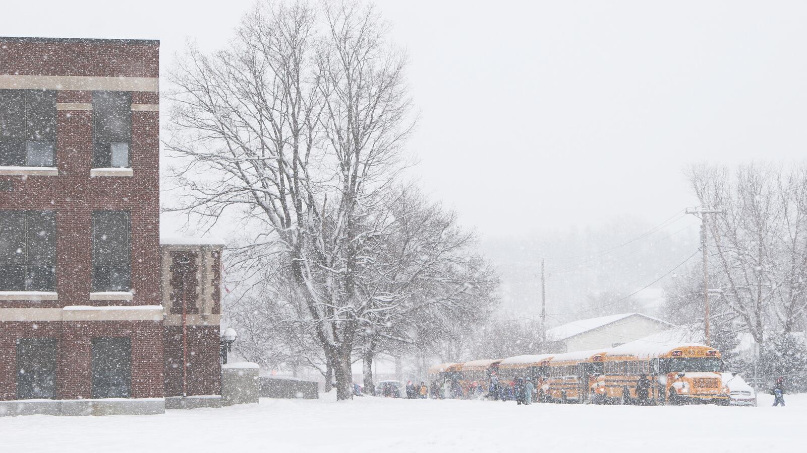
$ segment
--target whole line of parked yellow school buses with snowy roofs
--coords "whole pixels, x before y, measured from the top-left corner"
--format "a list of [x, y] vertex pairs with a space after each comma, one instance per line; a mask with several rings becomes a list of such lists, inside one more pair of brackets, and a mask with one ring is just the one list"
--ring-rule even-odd
[[498, 399], [500, 389], [522, 378], [533, 381], [539, 402], [729, 405], [721, 371], [720, 352], [713, 347], [639, 341], [611, 349], [440, 364], [429, 368], [429, 388], [448, 384], [454, 397]]

